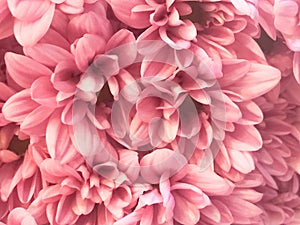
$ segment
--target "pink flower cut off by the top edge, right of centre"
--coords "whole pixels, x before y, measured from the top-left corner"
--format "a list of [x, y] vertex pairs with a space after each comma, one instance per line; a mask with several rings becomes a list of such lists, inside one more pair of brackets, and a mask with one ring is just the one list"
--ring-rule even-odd
[[[254, 17], [257, 17], [256, 8], [251, 2], [246, 1], [234, 2], [233, 5], [226, 1], [218, 3], [126, 1], [124, 3], [124, 1], [109, 0], [108, 3], [115, 15], [125, 24], [134, 28], [149, 27], [141, 34], [140, 40], [153, 40], [160, 37], [177, 49], [189, 48], [190, 42], [196, 41], [196, 35], [199, 33], [202, 34], [199, 38], [208, 39], [208, 42], [227, 44], [232, 43], [233, 33], [245, 30], [246, 33], [256, 35], [258, 32], [255, 28], [257, 21], [253, 21]], [[195, 13], [196, 11], [199, 14]]]

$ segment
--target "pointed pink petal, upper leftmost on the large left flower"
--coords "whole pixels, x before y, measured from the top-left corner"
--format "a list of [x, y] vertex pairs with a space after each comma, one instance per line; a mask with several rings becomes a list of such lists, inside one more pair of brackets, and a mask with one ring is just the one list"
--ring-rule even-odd
[[51, 75], [51, 70], [29, 57], [6, 53], [5, 62], [8, 73], [23, 88], [29, 88], [38, 77]]

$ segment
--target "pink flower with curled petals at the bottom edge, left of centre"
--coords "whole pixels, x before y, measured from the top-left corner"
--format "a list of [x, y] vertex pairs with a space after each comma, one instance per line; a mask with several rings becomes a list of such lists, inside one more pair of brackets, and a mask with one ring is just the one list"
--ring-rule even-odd
[[41, 190], [28, 208], [39, 224], [112, 224], [132, 207], [130, 187], [100, 180], [84, 164], [70, 166], [45, 159], [40, 167], [42, 177], [52, 185]]

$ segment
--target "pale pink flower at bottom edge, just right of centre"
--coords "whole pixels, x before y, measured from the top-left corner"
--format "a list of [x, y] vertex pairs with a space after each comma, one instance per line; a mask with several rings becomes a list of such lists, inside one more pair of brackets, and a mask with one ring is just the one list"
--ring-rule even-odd
[[202, 210], [211, 205], [205, 192], [223, 195], [231, 190], [230, 182], [214, 172], [188, 166], [170, 180], [162, 179], [159, 188], [143, 193], [134, 211], [115, 224], [196, 224]]

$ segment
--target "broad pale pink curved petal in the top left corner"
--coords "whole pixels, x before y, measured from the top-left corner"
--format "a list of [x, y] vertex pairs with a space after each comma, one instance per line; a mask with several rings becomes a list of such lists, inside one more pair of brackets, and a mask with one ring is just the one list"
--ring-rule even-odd
[[23, 46], [36, 44], [48, 31], [54, 15], [55, 4], [51, 4], [46, 13], [35, 21], [16, 20], [14, 34]]

